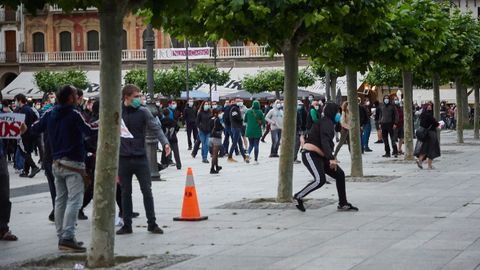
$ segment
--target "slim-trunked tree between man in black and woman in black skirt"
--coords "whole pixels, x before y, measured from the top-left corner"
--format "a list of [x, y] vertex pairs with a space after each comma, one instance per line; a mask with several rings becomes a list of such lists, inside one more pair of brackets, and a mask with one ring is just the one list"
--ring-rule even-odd
[[430, 0], [398, 2], [389, 18], [391, 31], [380, 38], [376, 60], [402, 70], [404, 95], [405, 159], [413, 160], [413, 74], [422, 62], [442, 49], [447, 16]]

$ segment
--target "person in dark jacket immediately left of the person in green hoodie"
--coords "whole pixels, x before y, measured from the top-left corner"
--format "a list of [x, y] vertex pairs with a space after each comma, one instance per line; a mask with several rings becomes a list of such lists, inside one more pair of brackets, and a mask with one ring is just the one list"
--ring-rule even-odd
[[242, 154], [243, 160], [246, 163], [250, 162], [250, 159], [245, 154], [242, 143], [243, 118], [242, 112], [240, 111], [240, 107], [242, 106], [243, 100], [241, 98], [237, 98], [235, 99], [235, 104], [232, 104], [232, 107], [230, 109], [230, 123], [232, 125], [232, 146], [230, 147], [230, 151], [228, 152], [229, 162], [237, 162], [235, 159], [233, 159], [232, 156], [237, 146], [240, 150], [240, 153]]

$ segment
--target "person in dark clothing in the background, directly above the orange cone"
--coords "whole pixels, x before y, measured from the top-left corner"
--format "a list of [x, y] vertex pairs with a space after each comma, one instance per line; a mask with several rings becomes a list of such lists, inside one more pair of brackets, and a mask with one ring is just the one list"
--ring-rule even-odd
[[[163, 109], [163, 115], [168, 115], [169, 109]], [[178, 151], [178, 138], [177, 132], [179, 130], [178, 123], [176, 118], [171, 119], [170, 117], [162, 117], [160, 120], [162, 123], [162, 129], [165, 136], [167, 136], [168, 142], [170, 143], [170, 148], [172, 149], [173, 156], [175, 158], [175, 165], [177, 170], [182, 169], [182, 161], [180, 160], [180, 152]], [[168, 158], [165, 155], [165, 152], [162, 152], [162, 165], [168, 166], [171, 162], [171, 158]]]

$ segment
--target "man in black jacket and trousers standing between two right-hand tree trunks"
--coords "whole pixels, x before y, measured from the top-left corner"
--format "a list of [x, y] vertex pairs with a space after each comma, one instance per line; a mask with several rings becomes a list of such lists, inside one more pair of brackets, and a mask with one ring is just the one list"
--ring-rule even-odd
[[390, 144], [388, 143], [388, 137], [392, 142], [393, 155], [398, 156], [398, 148], [395, 142], [394, 129], [398, 124], [398, 113], [394, 105], [390, 103], [390, 97], [385, 95], [383, 97], [384, 106], [380, 115], [380, 128], [382, 129], [383, 143], [385, 144], [385, 155], [382, 157], [390, 157]]

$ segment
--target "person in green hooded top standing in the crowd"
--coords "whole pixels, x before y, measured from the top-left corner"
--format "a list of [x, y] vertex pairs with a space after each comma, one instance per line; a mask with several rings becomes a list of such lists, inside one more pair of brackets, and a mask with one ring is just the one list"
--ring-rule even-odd
[[248, 138], [248, 155], [254, 150], [255, 165], [258, 165], [258, 153], [260, 151], [260, 138], [262, 137], [262, 126], [265, 121], [260, 102], [253, 101], [252, 108], [245, 113], [245, 123], [247, 124], [246, 136]]

